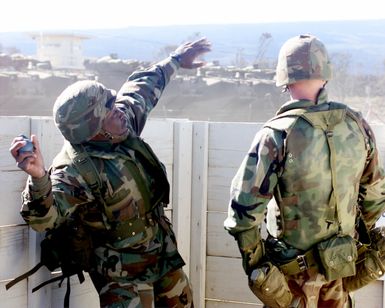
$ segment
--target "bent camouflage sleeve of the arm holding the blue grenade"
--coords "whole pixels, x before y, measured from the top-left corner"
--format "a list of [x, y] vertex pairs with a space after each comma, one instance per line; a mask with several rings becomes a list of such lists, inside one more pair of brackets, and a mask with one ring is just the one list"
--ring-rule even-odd
[[60, 224], [76, 206], [91, 202], [94, 197], [78, 178], [71, 170], [61, 169], [50, 170], [41, 179], [29, 177], [22, 192], [21, 216], [26, 223], [43, 232]]

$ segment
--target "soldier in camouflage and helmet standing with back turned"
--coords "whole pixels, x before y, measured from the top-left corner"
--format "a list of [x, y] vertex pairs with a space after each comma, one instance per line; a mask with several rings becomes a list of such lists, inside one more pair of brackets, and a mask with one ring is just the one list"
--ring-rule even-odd
[[352, 307], [343, 277], [355, 275], [357, 217], [371, 230], [385, 209], [373, 132], [359, 112], [328, 100], [331, 76], [316, 37], [282, 46], [276, 84], [291, 100], [256, 134], [232, 181], [224, 226], [268, 307]]

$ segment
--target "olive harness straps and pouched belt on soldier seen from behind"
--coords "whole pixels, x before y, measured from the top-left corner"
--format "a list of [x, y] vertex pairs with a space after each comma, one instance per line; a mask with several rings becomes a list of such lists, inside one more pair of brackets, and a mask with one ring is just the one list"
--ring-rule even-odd
[[[364, 141], [364, 147], [366, 151], [366, 161], [365, 164], [368, 164], [368, 158], [370, 154], [370, 145], [369, 145], [369, 138], [368, 133], [365, 131], [365, 128], [363, 127], [363, 124], [361, 123], [360, 115], [355, 113], [353, 110], [349, 109], [346, 105], [335, 103], [335, 102], [329, 102], [324, 105], [315, 105], [307, 108], [297, 108], [297, 109], [290, 109], [285, 112], [282, 112], [278, 114], [276, 117], [274, 117], [272, 120], [268, 121], [265, 124], [265, 127], [269, 127], [271, 129], [275, 129], [278, 131], [284, 132], [284, 136], [286, 140], [290, 136], [290, 134], [293, 132], [293, 128], [296, 126], [296, 121], [300, 118], [307, 122], [311, 127], [317, 128], [318, 130], [321, 130], [322, 133], [325, 136], [326, 139], [326, 145], [327, 145], [327, 154], [328, 154], [328, 163], [330, 164], [330, 186], [331, 186], [331, 193], [329, 195], [329, 202], [326, 204], [326, 208], [324, 211], [324, 215], [320, 216], [322, 219], [325, 219], [323, 223], [327, 223], [329, 229], [329, 224], [335, 223], [338, 226], [338, 229], [335, 230], [335, 234], [326, 234], [326, 232], [323, 234], [323, 239], [318, 240], [316, 243], [312, 243], [310, 245], [310, 248], [301, 248], [300, 249], [293, 249], [294, 245], [298, 248], [295, 244], [292, 244], [292, 242], [287, 241], [287, 238], [292, 236], [292, 234], [289, 233], [289, 236], [287, 236], [288, 233], [285, 235], [287, 236], [285, 238], [285, 241], [280, 241], [280, 238], [278, 236], [277, 238], [268, 239], [266, 241], [267, 244], [267, 251], [268, 255], [271, 258], [272, 261], [275, 262], [275, 264], [279, 264], [280, 269], [287, 275], [295, 275], [305, 269], [308, 268], [308, 262], [311, 264], [310, 266], [318, 266], [320, 272], [322, 272], [325, 275], [325, 278], [327, 281], [336, 280], [338, 278], [344, 278], [344, 277], [350, 277], [354, 276], [356, 274], [356, 267], [355, 267], [355, 261], [358, 257], [358, 246], [357, 238], [353, 238], [350, 234], [353, 233], [353, 231], [357, 231], [358, 239], [360, 241], [360, 245], [367, 246], [370, 244], [370, 238], [367, 233], [365, 223], [362, 221], [359, 213], [360, 208], [357, 204], [357, 210], [356, 212], [352, 211], [354, 213], [354, 216], [347, 216], [344, 215], [345, 213], [342, 212], [341, 203], [340, 203], [340, 191], [337, 184], [337, 155], [338, 155], [338, 148], [336, 147], [335, 141], [333, 139], [334, 136], [334, 130], [336, 125], [341, 123], [345, 120], [346, 117], [349, 117], [352, 121], [354, 121], [357, 124], [358, 128], [358, 134], [362, 134], [363, 141]], [[296, 136], [296, 135], [294, 135]], [[291, 139], [293, 140], [293, 139]], [[293, 142], [293, 141], [292, 141]], [[294, 144], [294, 146], [293, 146]], [[292, 143], [292, 148], [300, 146], [301, 143], [296, 144], [295, 142]], [[288, 164], [295, 164], [293, 162], [293, 159], [291, 159], [290, 152], [288, 152], [288, 143], [283, 143], [283, 160], [286, 161], [286, 153], [289, 153], [287, 161]], [[319, 150], [319, 148], [317, 148]], [[364, 154], [362, 155], [364, 156]], [[291, 161], [290, 161], [291, 160]], [[364, 161], [363, 161], [364, 162]], [[303, 161], [295, 165], [298, 169], [299, 164], [303, 165]], [[292, 167], [293, 168], [293, 167]], [[289, 168], [285, 170], [287, 172]], [[312, 170], [312, 169], [311, 169]], [[314, 171], [314, 170], [313, 170]], [[292, 173], [293, 174], [293, 173]], [[291, 174], [291, 175], [292, 175]], [[298, 173], [295, 173], [295, 175], [298, 177]], [[290, 177], [286, 178], [286, 183], [289, 181]], [[295, 178], [293, 178], [295, 179]], [[276, 196], [278, 201], [281, 201], [281, 204], [279, 206], [281, 207], [281, 215], [282, 217], [286, 218], [287, 212], [285, 213], [285, 204], [282, 198], [283, 194], [282, 189], [285, 189], [286, 187], [284, 184], [277, 184], [276, 187]], [[298, 191], [295, 191], [295, 189], [289, 190], [291, 194], [297, 193]], [[286, 197], [287, 195], [285, 195]], [[292, 197], [292, 195], [290, 195]], [[286, 199], [287, 200], [287, 199]], [[283, 205], [282, 205], [283, 204]], [[290, 211], [290, 209], [289, 209]], [[286, 214], [286, 216], [285, 216]], [[300, 216], [300, 214], [296, 214]], [[302, 212], [302, 216], [303, 212]], [[308, 216], [305, 216], [308, 218]], [[350, 221], [348, 221], [350, 219]], [[353, 220], [353, 226], [350, 224]], [[313, 220], [311, 220], [312, 223], [314, 223]], [[347, 223], [347, 221], [349, 223]], [[344, 226], [345, 229], [343, 229], [341, 226]], [[283, 228], [285, 227], [285, 223], [282, 223]], [[289, 225], [287, 223], [286, 225]], [[293, 228], [294, 229], [294, 228]], [[354, 229], [354, 230], [352, 230]], [[311, 238], [308, 234], [305, 235], [306, 238]], [[290, 240], [293, 239], [293, 236], [289, 238]], [[297, 236], [298, 239], [298, 236]], [[297, 251], [296, 251], [297, 250]], [[300, 263], [295, 257], [298, 255], [305, 256], [308, 261], [305, 260], [305, 263]], [[272, 257], [271, 257], [272, 256]], [[314, 257], [316, 256], [316, 257]], [[294, 259], [293, 259], [294, 258]], [[293, 261], [294, 260], [294, 261]], [[309, 261], [310, 260], [310, 261]], [[302, 261], [301, 261], [302, 262]]]

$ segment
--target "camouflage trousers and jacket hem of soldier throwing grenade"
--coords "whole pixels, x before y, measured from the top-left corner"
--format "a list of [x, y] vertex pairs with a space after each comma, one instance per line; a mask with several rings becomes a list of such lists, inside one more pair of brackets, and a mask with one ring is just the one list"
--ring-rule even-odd
[[161, 217], [158, 229], [153, 240], [135, 249], [95, 249], [96, 268], [89, 274], [101, 307], [193, 307], [171, 224]]

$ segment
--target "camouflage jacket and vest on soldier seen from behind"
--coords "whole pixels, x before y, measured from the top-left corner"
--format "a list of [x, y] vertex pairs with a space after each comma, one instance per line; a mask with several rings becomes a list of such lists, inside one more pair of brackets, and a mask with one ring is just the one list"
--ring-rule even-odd
[[385, 209], [385, 173], [360, 113], [331, 104], [326, 91], [316, 105], [284, 104], [257, 133], [232, 181], [225, 228], [232, 235], [260, 228], [271, 199], [279, 236], [298, 249], [337, 232], [353, 235], [357, 205], [372, 228]]

